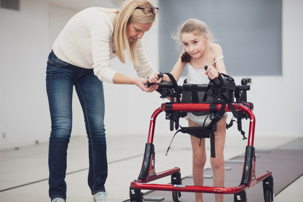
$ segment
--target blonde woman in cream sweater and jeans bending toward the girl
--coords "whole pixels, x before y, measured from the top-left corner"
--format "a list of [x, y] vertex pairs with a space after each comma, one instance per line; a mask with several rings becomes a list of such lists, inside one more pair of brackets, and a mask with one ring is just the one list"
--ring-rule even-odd
[[[121, 9], [87, 8], [72, 17], [55, 40], [48, 56], [46, 88], [52, 121], [49, 139], [49, 197], [66, 200], [66, 157], [72, 129], [72, 91], [75, 86], [85, 118], [89, 145], [88, 186], [96, 202], [109, 201], [102, 82], [145, 86], [155, 74], [144, 51], [142, 36], [155, 21], [158, 8], [149, 0], [127, 0]], [[109, 60], [125, 63], [124, 50], [138, 78], [116, 72]]]

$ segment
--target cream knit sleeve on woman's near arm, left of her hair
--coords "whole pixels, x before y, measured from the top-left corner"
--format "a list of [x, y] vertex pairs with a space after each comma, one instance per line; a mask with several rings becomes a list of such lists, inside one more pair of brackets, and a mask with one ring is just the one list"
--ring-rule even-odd
[[94, 74], [104, 82], [113, 83], [117, 71], [110, 67], [110, 38], [113, 33], [112, 21], [102, 16], [95, 17], [89, 28], [91, 32]]

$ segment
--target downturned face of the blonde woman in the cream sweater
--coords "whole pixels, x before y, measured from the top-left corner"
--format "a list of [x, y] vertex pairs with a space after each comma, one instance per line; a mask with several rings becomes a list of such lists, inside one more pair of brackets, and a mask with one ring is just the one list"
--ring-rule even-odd
[[141, 39], [145, 32], [151, 28], [152, 22], [142, 24], [138, 22], [131, 22], [126, 25], [126, 34], [128, 42], [133, 42], [136, 39]]

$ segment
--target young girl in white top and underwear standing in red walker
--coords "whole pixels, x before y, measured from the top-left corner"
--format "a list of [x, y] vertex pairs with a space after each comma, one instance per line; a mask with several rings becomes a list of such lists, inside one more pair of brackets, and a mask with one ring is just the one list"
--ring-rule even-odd
[[[207, 26], [204, 22], [197, 19], [189, 19], [181, 25], [179, 36], [183, 44], [180, 57], [171, 71], [176, 81], [181, 76], [181, 73], [188, 64], [187, 83], [191, 84], [208, 84], [209, 79], [215, 79], [219, 76], [218, 72], [225, 73], [223, 62], [223, 54], [220, 45], [210, 43], [210, 36]], [[207, 65], [207, 71], [204, 66]], [[208, 79], [209, 78], [209, 79]], [[171, 81], [167, 75], [163, 75], [162, 79], [158, 80], [157, 73], [151, 76], [148, 81], [151, 83], [159, 83], [163, 81]], [[188, 126], [202, 126], [206, 116], [195, 116], [188, 113]], [[208, 118], [209, 119], [209, 118]], [[210, 120], [205, 122], [208, 126]], [[217, 131], [215, 132], [215, 151], [216, 157], [210, 158], [211, 167], [214, 172], [214, 186], [224, 186], [224, 157], [223, 149], [225, 144], [226, 133], [226, 116], [217, 123]], [[193, 151], [193, 178], [195, 186], [203, 186], [203, 169], [206, 162], [205, 154], [205, 138], [201, 140], [194, 136], [190, 136]], [[195, 202], [202, 202], [202, 193], [196, 193]], [[216, 202], [223, 201], [223, 194], [215, 194]]]

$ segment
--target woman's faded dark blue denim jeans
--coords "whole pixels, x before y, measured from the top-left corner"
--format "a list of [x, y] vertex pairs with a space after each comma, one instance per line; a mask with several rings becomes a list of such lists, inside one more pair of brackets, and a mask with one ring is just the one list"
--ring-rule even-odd
[[88, 186], [92, 194], [105, 191], [107, 178], [103, 83], [93, 69], [64, 62], [51, 52], [46, 69], [46, 90], [52, 131], [49, 138], [49, 197], [66, 199], [66, 157], [72, 131], [72, 93], [75, 86], [84, 113], [88, 137]]

